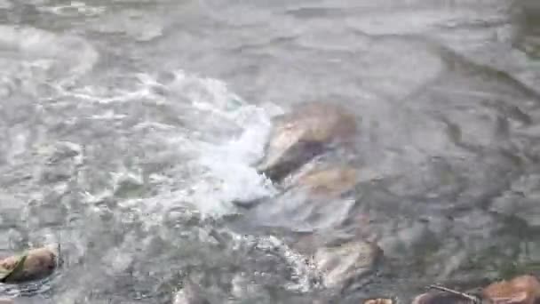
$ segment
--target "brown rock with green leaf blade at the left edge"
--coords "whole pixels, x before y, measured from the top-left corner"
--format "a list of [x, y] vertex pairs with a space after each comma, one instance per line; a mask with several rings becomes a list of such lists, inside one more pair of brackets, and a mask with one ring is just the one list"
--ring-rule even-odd
[[2, 277], [0, 281], [17, 284], [50, 276], [56, 268], [57, 252], [42, 247], [29, 250], [24, 255], [11, 256], [0, 260]]

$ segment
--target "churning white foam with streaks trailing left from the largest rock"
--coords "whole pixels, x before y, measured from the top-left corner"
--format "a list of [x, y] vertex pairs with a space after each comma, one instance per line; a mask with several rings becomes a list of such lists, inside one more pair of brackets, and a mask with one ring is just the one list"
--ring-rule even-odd
[[[259, 175], [252, 164], [264, 155], [271, 117], [281, 113], [280, 109], [271, 103], [261, 108], [245, 102], [217, 79], [182, 70], [173, 75], [171, 83], [162, 84], [157, 76], [140, 74], [137, 77], [139, 84], [131, 92], [99, 92], [93, 87], [64, 92], [99, 104], [140, 99], [155, 101], [171, 108], [182, 116], [182, 122], [186, 122], [143, 121], [133, 127], [133, 131], [150, 130], [160, 145], [171, 149], [163, 153], [171, 154], [176, 149], [179, 164], [168, 172], [153, 175], [151, 186], [158, 188], [157, 196], [126, 198], [122, 205], [141, 212], [148, 212], [148, 209], [166, 211], [170, 207], [187, 205], [203, 214], [220, 216], [235, 212], [233, 202], [236, 200], [273, 195], [272, 183]], [[155, 87], [167, 92], [166, 97], [156, 94], [152, 90]], [[123, 116], [109, 111], [91, 116], [91, 119], [122, 120]], [[229, 133], [229, 129], [232, 132]], [[116, 172], [114, 175], [127, 176], [128, 173]], [[114, 185], [119, 182], [112, 180]]]

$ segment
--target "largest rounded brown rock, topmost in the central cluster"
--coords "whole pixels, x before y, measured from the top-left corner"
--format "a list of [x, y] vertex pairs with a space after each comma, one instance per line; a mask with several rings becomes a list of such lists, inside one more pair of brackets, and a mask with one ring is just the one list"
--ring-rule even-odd
[[356, 133], [356, 118], [344, 108], [305, 103], [290, 114], [278, 116], [258, 172], [274, 181], [297, 170], [309, 160]]

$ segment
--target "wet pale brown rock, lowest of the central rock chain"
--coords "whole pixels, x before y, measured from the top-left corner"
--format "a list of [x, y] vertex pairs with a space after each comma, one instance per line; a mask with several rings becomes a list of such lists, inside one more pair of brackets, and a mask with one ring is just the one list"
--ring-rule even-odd
[[381, 254], [376, 244], [354, 240], [319, 248], [314, 254], [314, 265], [322, 272], [322, 283], [336, 287], [371, 272]]

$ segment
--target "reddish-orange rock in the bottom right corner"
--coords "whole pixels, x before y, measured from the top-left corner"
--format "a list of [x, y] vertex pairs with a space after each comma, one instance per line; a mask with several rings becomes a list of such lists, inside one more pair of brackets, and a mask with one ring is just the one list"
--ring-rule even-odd
[[535, 276], [516, 276], [488, 285], [482, 295], [496, 304], [535, 304], [540, 301], [540, 283]]

